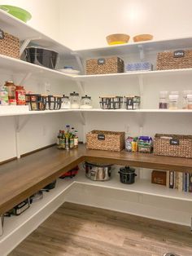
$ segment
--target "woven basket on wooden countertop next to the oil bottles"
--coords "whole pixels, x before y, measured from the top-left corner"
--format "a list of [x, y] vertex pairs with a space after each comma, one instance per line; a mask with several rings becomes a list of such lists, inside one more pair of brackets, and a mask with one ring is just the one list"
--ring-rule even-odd
[[121, 151], [124, 149], [124, 132], [92, 130], [86, 135], [86, 148]]

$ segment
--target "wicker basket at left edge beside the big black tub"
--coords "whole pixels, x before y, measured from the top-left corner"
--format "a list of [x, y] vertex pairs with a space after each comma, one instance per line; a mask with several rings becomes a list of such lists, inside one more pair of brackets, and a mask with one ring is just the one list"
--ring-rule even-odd
[[20, 41], [9, 33], [0, 29], [0, 54], [20, 59]]

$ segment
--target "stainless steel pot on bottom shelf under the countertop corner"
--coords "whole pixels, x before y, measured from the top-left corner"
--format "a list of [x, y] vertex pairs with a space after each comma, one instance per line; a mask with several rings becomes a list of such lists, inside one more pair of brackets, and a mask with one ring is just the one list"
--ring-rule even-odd
[[106, 181], [111, 178], [111, 166], [107, 164], [95, 164], [85, 162], [85, 175], [94, 181]]

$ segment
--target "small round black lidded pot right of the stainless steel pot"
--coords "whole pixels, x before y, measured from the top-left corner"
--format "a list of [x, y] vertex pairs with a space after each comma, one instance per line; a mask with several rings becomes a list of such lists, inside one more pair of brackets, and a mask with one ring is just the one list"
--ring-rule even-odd
[[135, 182], [135, 169], [130, 168], [129, 166], [121, 167], [120, 171], [120, 182], [121, 183], [127, 183], [127, 184], [132, 184]]

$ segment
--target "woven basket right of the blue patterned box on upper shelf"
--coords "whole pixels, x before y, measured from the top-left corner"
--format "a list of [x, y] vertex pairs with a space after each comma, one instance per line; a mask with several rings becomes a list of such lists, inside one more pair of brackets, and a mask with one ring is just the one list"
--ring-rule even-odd
[[157, 69], [192, 68], [192, 50], [164, 51], [157, 55]]

